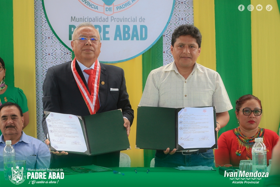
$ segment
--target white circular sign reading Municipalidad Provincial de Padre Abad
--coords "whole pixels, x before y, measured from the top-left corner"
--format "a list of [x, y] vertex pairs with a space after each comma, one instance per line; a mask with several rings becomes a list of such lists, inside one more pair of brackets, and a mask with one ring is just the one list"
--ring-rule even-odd
[[72, 50], [72, 33], [82, 22], [100, 32], [98, 60], [117, 63], [150, 49], [166, 30], [175, 0], [42, 0], [46, 19], [58, 40]]

